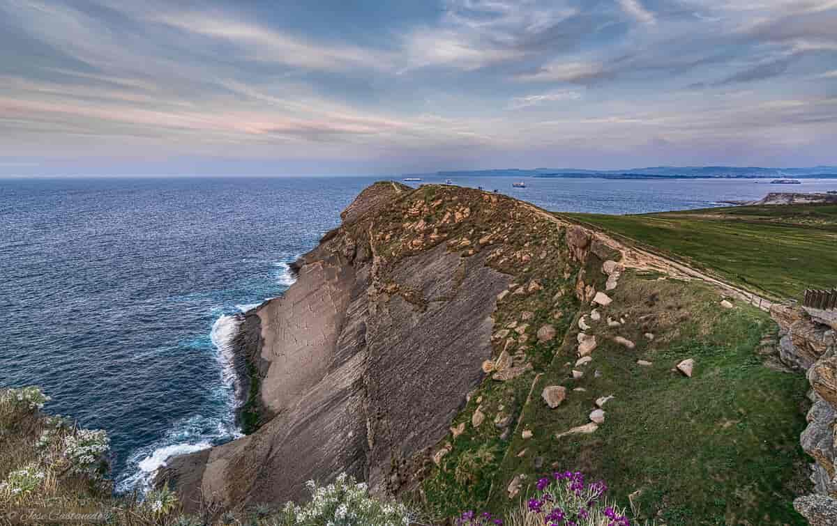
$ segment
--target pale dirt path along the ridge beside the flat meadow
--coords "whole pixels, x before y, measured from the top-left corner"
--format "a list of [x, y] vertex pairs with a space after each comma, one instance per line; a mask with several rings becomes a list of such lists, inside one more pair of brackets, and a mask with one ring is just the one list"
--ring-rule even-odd
[[609, 248], [613, 248], [614, 250], [619, 251], [622, 254], [622, 263], [625, 268], [636, 268], [639, 270], [650, 270], [656, 271], [659, 273], [665, 273], [666, 275], [671, 276], [672, 278], [678, 279], [700, 279], [701, 281], [705, 281], [706, 283], [711, 283], [715, 285], [717, 288], [723, 290], [724, 294], [731, 298], [739, 299], [748, 304], [751, 304], [759, 309], [762, 309], [765, 312], [770, 312], [770, 308], [773, 306], [775, 302], [773, 300], [763, 298], [758, 294], [753, 294], [749, 291], [739, 289], [735, 285], [722, 281], [721, 279], [714, 278], [706, 273], [702, 273], [695, 268], [691, 268], [690, 266], [686, 265], [685, 263], [679, 263], [673, 261], [669, 258], [664, 258], [659, 256], [655, 253], [650, 253], [647, 250], [643, 250], [641, 248], [631, 247], [617, 241], [613, 237], [608, 236], [608, 234], [603, 233], [598, 230], [593, 230], [592, 228], [585, 227], [583, 225], [579, 225], [578, 223], [567, 221], [566, 219], [562, 219], [561, 217], [556, 217], [549, 212], [541, 210], [538, 207], [530, 205], [526, 203], [524, 206], [529, 208], [532, 212], [536, 212], [541, 217], [548, 219], [551, 222], [556, 223], [562, 227], [569, 227], [569, 226], [578, 226], [583, 227], [585, 230], [592, 232], [595, 237], [598, 238], [599, 241], [606, 244]]

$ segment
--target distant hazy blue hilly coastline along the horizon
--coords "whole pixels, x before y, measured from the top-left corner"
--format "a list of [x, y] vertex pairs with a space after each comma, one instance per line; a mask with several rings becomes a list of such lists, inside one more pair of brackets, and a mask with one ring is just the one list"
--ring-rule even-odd
[[763, 168], [759, 166], [650, 166], [628, 170], [583, 170], [579, 168], [503, 168], [497, 170], [437, 171], [403, 174], [404, 177], [567, 177], [598, 179], [831, 179], [837, 178], [837, 166], [808, 168]]

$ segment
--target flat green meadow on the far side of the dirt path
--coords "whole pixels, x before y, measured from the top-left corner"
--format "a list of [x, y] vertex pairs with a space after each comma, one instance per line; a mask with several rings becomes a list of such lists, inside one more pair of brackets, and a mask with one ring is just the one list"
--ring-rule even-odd
[[640, 216], [562, 214], [776, 299], [837, 284], [837, 206], [727, 207]]

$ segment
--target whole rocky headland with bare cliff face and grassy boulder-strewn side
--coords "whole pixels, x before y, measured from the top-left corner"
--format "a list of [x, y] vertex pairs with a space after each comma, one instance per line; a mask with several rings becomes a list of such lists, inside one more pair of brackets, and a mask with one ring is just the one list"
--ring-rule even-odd
[[583, 469], [643, 518], [802, 520], [785, 481], [804, 379], [716, 278], [510, 197], [390, 182], [294, 268], [239, 320], [249, 434], [159, 474], [188, 511], [281, 506], [348, 472], [442, 523]]

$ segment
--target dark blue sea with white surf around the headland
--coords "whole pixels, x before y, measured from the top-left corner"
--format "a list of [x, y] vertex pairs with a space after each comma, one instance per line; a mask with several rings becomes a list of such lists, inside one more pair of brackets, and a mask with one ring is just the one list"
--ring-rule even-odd
[[[49, 412], [107, 430], [123, 491], [172, 454], [229, 441], [239, 433], [231, 315], [282, 294], [287, 263], [372, 181], [0, 180], [0, 386], [42, 386]], [[837, 180], [512, 181], [454, 182], [606, 213], [837, 190]]]

